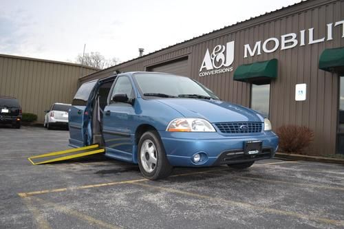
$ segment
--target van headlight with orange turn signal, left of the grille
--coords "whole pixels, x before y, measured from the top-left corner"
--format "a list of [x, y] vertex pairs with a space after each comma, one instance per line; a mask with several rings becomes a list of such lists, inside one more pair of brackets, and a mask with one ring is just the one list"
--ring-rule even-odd
[[215, 132], [214, 127], [202, 118], [177, 118], [170, 122], [166, 131], [171, 132]]

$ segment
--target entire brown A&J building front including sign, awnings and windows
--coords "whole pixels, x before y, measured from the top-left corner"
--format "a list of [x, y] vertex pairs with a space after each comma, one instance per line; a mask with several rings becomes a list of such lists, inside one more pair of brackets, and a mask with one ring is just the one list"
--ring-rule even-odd
[[[344, 153], [344, 2], [302, 1], [80, 78], [168, 72], [257, 109], [273, 129], [309, 127], [310, 155]], [[343, 116], [343, 117], [342, 117]]]

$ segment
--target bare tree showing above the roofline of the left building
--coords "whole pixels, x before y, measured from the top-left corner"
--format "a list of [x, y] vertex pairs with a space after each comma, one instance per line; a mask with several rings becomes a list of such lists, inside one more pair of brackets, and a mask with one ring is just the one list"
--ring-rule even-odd
[[83, 54], [78, 54], [78, 56], [76, 56], [76, 63], [98, 69], [105, 69], [116, 65], [118, 63], [118, 58], [107, 59], [100, 54], [100, 52], [90, 52], [85, 53], [84, 57]]

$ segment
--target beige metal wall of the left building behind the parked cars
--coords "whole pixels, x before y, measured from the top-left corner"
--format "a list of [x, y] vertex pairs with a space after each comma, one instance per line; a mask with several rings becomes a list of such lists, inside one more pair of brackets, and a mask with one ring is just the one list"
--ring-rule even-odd
[[[83, 67], [84, 75], [95, 71]], [[72, 102], [80, 74], [79, 65], [0, 55], [0, 95], [18, 98], [23, 113], [36, 113], [43, 122], [53, 102]]]

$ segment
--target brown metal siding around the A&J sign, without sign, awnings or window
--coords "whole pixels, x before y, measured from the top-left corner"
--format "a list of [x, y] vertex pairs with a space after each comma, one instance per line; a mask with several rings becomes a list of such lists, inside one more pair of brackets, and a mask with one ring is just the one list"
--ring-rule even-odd
[[[251, 47], [256, 41], [262, 43], [271, 37], [280, 40], [281, 35], [314, 28], [314, 39], [325, 35], [326, 24], [344, 20], [344, 2], [334, 0], [303, 1], [295, 6], [277, 10], [255, 19], [200, 36], [191, 41], [173, 45], [153, 54], [122, 63], [111, 69], [92, 74], [81, 79], [81, 82], [109, 76], [114, 69], [121, 71], [144, 71], [151, 65], [188, 56], [188, 76], [206, 85], [223, 100], [240, 105], [250, 105], [250, 84], [233, 80], [235, 69], [242, 64], [278, 59], [278, 77], [270, 87], [270, 119], [276, 130], [283, 124], [298, 124], [310, 127], [315, 132], [314, 143], [309, 154], [327, 154], [335, 152], [336, 118], [338, 109], [338, 76], [318, 69], [319, 56], [325, 48], [343, 47], [342, 28], [333, 29], [333, 40], [312, 45], [280, 50], [270, 54], [262, 52], [244, 58], [244, 45]], [[306, 32], [306, 43], [308, 35]], [[225, 45], [235, 41], [235, 58], [231, 66], [233, 72], [213, 76], [199, 76], [206, 50], [216, 45]], [[307, 100], [295, 101], [295, 84], [307, 84]]]

